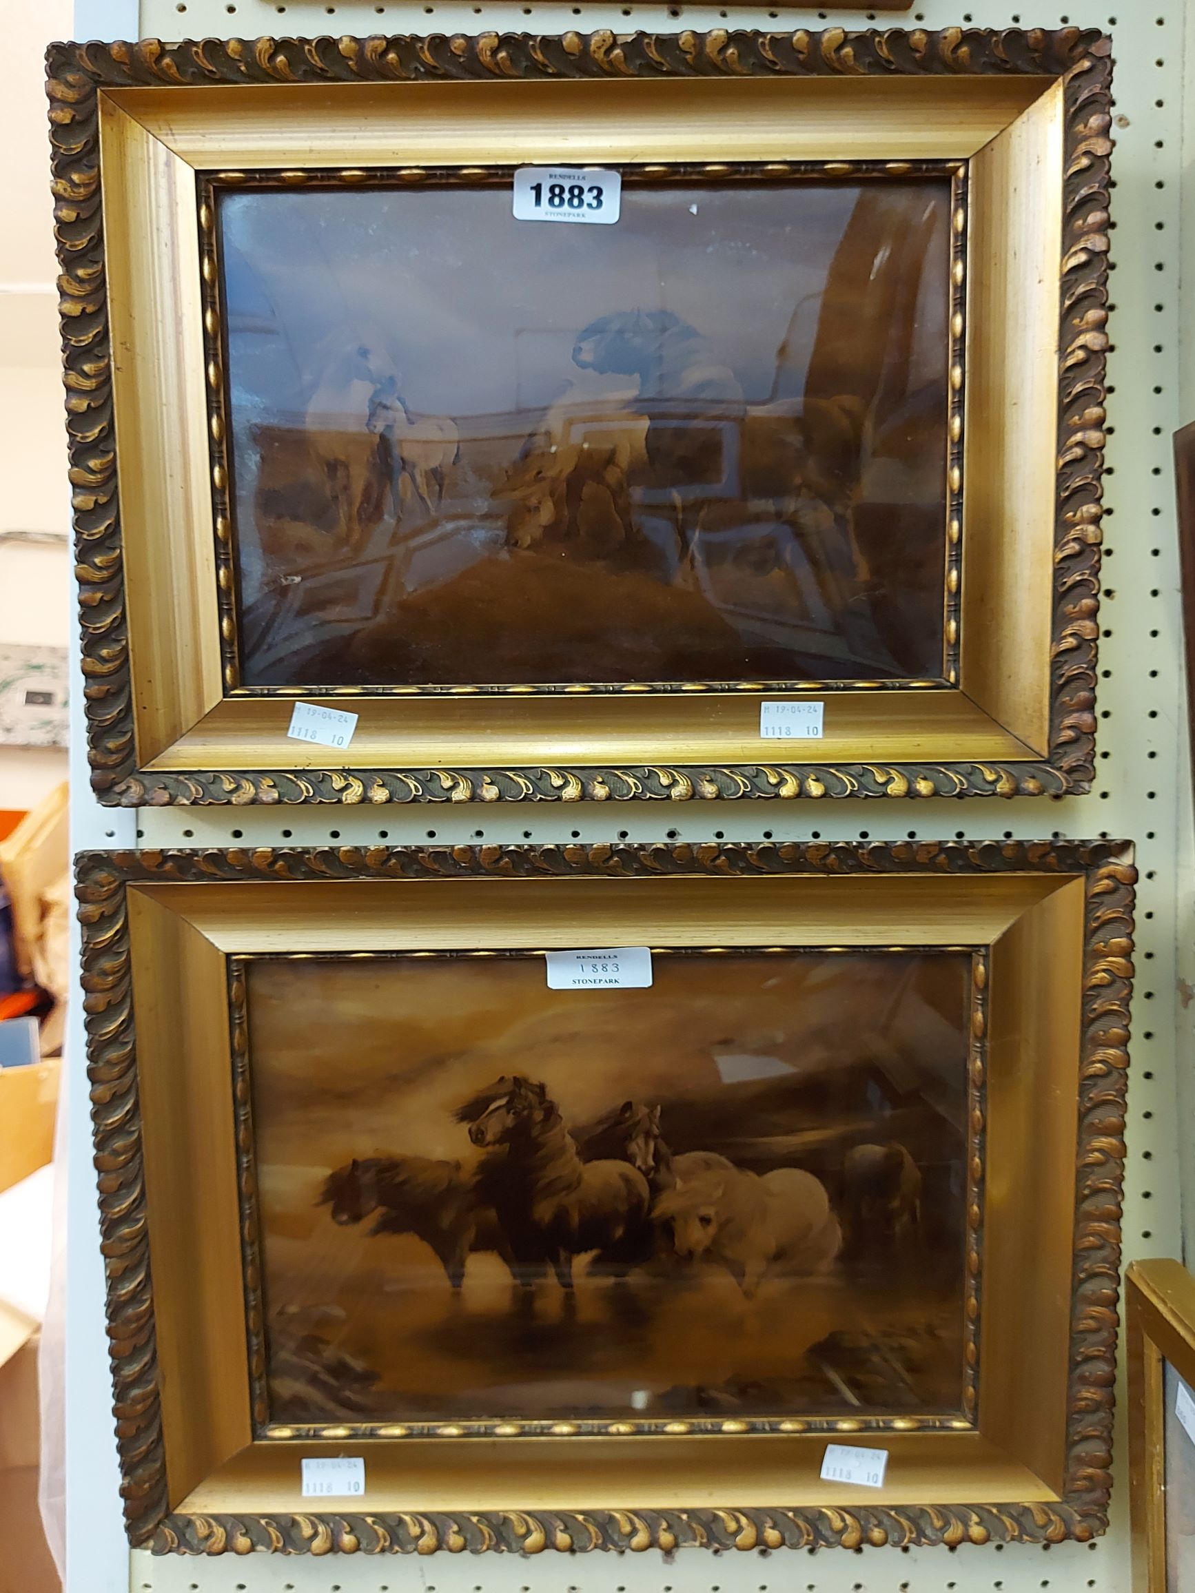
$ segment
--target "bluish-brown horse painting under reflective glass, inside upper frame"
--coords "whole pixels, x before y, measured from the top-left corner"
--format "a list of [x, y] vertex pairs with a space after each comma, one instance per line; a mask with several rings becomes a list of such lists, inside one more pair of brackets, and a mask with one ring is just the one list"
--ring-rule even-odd
[[943, 674], [950, 185], [218, 202], [244, 685]]

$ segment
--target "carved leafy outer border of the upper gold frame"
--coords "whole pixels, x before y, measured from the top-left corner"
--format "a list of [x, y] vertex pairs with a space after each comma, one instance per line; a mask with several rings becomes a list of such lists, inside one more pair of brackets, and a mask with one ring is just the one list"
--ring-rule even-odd
[[[1048, 757], [1040, 761], [445, 769], [137, 769], [124, 609], [97, 96], [196, 83], [1029, 75], [1061, 80], [1063, 277]], [[1107, 336], [1109, 41], [1077, 27], [523, 33], [54, 45], [48, 92], [92, 785], [112, 804], [1063, 795], [1090, 789]]]

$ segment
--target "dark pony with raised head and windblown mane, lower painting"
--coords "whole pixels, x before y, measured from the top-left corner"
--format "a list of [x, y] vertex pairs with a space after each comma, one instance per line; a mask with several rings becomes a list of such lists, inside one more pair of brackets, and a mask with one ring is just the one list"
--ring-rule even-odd
[[548, 1263], [561, 1289], [572, 1289], [574, 1255], [604, 1251], [645, 1222], [644, 1174], [628, 1161], [582, 1161], [545, 1085], [502, 1077], [456, 1118], [486, 1150], [478, 1195], [492, 1204], [524, 1282]]

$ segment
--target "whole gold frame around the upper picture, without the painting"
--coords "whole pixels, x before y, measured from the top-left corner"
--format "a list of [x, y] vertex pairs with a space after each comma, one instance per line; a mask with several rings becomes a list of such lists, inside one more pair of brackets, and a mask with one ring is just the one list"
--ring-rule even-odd
[[[53, 46], [83, 667], [100, 800], [1087, 790], [1109, 80], [1107, 40], [1076, 27]], [[967, 162], [967, 350], [954, 370], [966, 401], [959, 688], [829, 693], [816, 763], [760, 761], [771, 747], [749, 691], [320, 691], [360, 714], [354, 766], [320, 768], [319, 753], [285, 734], [301, 693], [225, 695], [217, 573], [229, 527], [212, 507], [194, 172], [290, 170], [300, 132], [308, 167], [394, 164], [395, 148], [411, 166], [468, 164], [480, 151], [521, 164], [556, 153], [566, 108], [574, 158], [607, 164], [774, 161], [793, 147], [827, 162]], [[150, 252], [147, 237], [167, 247]], [[132, 464], [120, 491], [118, 449]]]

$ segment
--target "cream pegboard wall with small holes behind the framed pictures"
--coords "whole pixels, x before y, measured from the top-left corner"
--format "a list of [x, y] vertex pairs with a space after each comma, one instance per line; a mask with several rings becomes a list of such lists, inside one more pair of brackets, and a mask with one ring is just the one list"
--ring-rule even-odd
[[[1195, 3], [1187, 0], [1195, 19]], [[1066, 800], [887, 803], [625, 803], [330, 809], [104, 811], [86, 789], [75, 738], [76, 846], [249, 846], [282, 841], [602, 841], [899, 836], [1128, 836], [1141, 868], [1138, 984], [1130, 1085], [1125, 1254], [1181, 1254], [1179, 1147], [1195, 1136], [1176, 1056], [1190, 1066], [1192, 875], [1185, 709], [1181, 680], [1171, 433], [1195, 417], [1182, 393], [1179, 335], [1195, 306], [1179, 292], [1182, 0], [923, 0], [910, 13], [801, 6], [317, 3], [317, 0], [80, 0], [76, 37], [237, 33], [561, 32], [610, 27], [985, 27], [1068, 22], [1111, 32], [1115, 54], [1112, 354], [1107, 519], [1101, 607], [1098, 781]], [[577, 19], [583, 16], [583, 22]], [[1190, 112], [1189, 112], [1190, 113]], [[1195, 226], [1192, 226], [1195, 244]], [[1195, 255], [1190, 255], [1195, 258]], [[1187, 360], [1190, 363], [1190, 360]], [[1192, 384], [1195, 387], [1195, 384]], [[1185, 398], [1185, 401], [1184, 401]], [[1184, 906], [1179, 910], [1179, 900]], [[1181, 964], [1176, 951], [1181, 948]], [[1179, 1000], [1179, 973], [1184, 999]], [[1192, 1008], [1195, 1012], [1195, 1008]], [[535, 1558], [440, 1553], [429, 1560], [225, 1555], [129, 1560], [121, 1534], [102, 1319], [81, 1024], [72, 1029], [72, 1260], [69, 1343], [69, 1593], [1126, 1593], [1126, 1489], [1117, 1466], [1112, 1531], [1095, 1544]], [[1182, 1110], [1179, 1110], [1179, 1101]], [[1189, 1152], [1185, 1152], [1189, 1155]], [[1187, 1166], [1190, 1192], [1195, 1168]], [[1190, 1200], [1190, 1193], [1189, 1193]], [[778, 1481], [778, 1494], [782, 1485]]]

